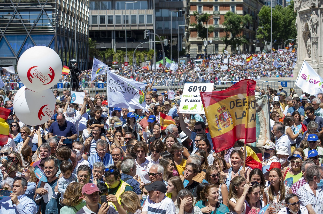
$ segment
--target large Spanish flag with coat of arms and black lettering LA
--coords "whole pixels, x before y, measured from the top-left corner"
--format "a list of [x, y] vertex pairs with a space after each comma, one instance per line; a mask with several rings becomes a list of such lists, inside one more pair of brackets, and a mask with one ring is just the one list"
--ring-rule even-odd
[[223, 91], [200, 92], [216, 152], [240, 139], [256, 141], [255, 87], [254, 80], [244, 79]]

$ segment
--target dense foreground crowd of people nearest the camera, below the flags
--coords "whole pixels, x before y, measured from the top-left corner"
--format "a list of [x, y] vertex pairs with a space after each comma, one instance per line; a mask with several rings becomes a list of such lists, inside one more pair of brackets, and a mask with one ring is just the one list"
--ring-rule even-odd
[[[6, 91], [0, 214], [254, 214], [268, 204], [269, 214], [323, 213], [323, 94], [255, 88], [271, 105], [271, 142], [250, 146], [261, 170], [243, 167], [239, 142], [214, 152], [205, 115], [180, 113], [182, 89], [168, 100], [147, 88], [147, 111], [84, 92], [73, 105], [54, 91], [53, 117], [28, 126]], [[161, 130], [160, 112], [175, 125]]]

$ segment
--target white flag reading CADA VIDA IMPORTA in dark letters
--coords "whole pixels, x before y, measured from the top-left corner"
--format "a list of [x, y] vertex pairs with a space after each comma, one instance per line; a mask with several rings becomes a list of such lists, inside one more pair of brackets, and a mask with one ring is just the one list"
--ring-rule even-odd
[[106, 72], [109, 107], [146, 109], [146, 84]]

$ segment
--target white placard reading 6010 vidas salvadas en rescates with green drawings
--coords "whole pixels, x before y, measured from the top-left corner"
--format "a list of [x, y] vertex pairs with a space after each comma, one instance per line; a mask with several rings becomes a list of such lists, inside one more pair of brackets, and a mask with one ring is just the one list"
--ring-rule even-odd
[[181, 113], [205, 114], [200, 96], [202, 92], [213, 90], [213, 83], [185, 83], [180, 105]]

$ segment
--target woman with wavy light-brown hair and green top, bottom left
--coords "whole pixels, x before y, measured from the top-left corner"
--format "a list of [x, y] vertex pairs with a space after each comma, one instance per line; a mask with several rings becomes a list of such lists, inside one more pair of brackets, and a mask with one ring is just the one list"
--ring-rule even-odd
[[60, 209], [60, 214], [75, 214], [86, 206], [86, 202], [82, 199], [82, 187], [83, 185], [78, 182], [68, 184], [62, 200], [65, 206]]

